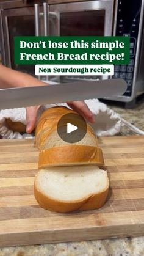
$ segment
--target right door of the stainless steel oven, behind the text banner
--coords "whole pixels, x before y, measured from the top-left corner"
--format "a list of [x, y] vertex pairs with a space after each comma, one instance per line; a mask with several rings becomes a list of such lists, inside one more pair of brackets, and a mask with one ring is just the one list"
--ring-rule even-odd
[[[57, 19], [49, 15], [51, 35], [112, 35], [113, 0], [54, 4], [49, 9], [50, 13], [57, 14]], [[101, 79], [107, 78], [101, 76]], [[78, 81], [81, 79], [87, 81], [83, 76]], [[60, 82], [67, 81], [71, 81], [71, 77], [60, 77]]]

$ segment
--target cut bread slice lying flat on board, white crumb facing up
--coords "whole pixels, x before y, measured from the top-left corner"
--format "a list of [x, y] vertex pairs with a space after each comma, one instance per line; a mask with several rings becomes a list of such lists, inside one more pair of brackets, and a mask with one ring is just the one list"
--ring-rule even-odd
[[49, 167], [35, 177], [35, 199], [41, 207], [66, 213], [104, 205], [109, 178], [98, 166]]

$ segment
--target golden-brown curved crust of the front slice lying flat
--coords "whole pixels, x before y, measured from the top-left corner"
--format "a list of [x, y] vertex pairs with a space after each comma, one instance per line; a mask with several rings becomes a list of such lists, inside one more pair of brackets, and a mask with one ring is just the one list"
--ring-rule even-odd
[[106, 202], [107, 195], [109, 192], [109, 179], [107, 178], [108, 186], [103, 191], [97, 194], [91, 194], [81, 200], [71, 201], [60, 201], [52, 199], [50, 196], [40, 191], [37, 184], [37, 176], [34, 183], [34, 195], [38, 204], [50, 211], [57, 211], [59, 213], [68, 213], [76, 210], [93, 210], [103, 207]]

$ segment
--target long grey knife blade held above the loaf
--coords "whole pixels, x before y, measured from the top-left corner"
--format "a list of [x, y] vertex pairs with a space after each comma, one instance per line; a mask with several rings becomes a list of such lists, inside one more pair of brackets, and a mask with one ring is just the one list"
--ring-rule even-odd
[[118, 96], [123, 95], [126, 88], [123, 79], [108, 79], [1, 89], [0, 109]]

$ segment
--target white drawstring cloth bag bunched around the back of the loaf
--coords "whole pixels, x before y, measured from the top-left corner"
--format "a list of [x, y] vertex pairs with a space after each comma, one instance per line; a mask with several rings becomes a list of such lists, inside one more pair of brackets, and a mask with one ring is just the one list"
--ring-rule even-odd
[[[92, 125], [92, 127], [97, 136], [113, 136], [118, 134], [121, 130], [121, 126], [123, 125], [126, 125], [130, 130], [135, 131], [137, 134], [144, 135], [144, 131], [136, 128], [134, 125], [131, 125], [131, 123], [122, 119], [119, 114], [108, 108], [106, 104], [101, 103], [98, 99], [85, 100], [85, 103], [88, 105], [95, 117], [95, 123]], [[67, 106], [67, 103], [41, 106], [38, 111], [37, 120], [46, 108], [51, 108], [52, 106]], [[0, 111], [0, 135], [4, 139], [23, 139], [33, 137], [32, 134], [20, 134], [18, 132], [9, 130], [5, 122], [5, 119], [8, 118], [10, 118], [13, 122], [21, 122], [26, 124], [26, 109], [16, 108]]]

